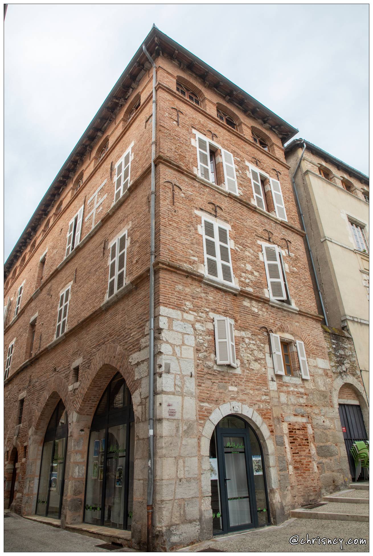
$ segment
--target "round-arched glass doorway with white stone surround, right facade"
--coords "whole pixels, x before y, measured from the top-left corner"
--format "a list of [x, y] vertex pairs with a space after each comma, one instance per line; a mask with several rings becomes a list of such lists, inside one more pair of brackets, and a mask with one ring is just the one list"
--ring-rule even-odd
[[260, 441], [246, 421], [227, 415], [210, 440], [213, 534], [269, 522], [264, 460]]

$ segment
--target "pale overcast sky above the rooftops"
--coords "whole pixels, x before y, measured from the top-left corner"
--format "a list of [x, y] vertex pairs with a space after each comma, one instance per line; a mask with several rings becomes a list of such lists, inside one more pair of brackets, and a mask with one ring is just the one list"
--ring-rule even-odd
[[367, 5], [15, 5], [4, 23], [4, 257], [153, 23], [361, 172]]

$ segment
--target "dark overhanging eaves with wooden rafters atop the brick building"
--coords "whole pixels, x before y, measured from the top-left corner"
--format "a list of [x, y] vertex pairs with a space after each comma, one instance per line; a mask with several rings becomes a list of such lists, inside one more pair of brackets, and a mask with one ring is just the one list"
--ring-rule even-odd
[[215, 88], [227, 101], [260, 120], [261, 125], [277, 133], [281, 138], [282, 144], [289, 141], [291, 137], [294, 137], [298, 132], [295, 127], [292, 127], [285, 120], [282, 120], [282, 118], [277, 116], [266, 106], [248, 95], [248, 93], [243, 91], [240, 87], [229, 81], [226, 77], [223, 77], [215, 69], [208, 66], [208, 64], [203, 62], [200, 58], [189, 52], [186, 48], [180, 46], [180, 44], [173, 41], [153, 25], [145, 41], [141, 43], [135, 56], [133, 56], [131, 62], [128, 64], [125, 71], [123, 71], [115, 86], [98, 109], [95, 117], [93, 117], [87, 129], [83, 132], [83, 135], [58, 171], [57, 176], [54, 178], [46, 194], [39, 202], [34, 214], [4, 264], [4, 276], [8, 275], [14, 262], [18, 260], [24, 248], [31, 242], [32, 237], [36, 234], [39, 225], [48, 214], [49, 209], [61, 195], [68, 181], [76, 173], [84, 156], [86, 156], [88, 151], [92, 150], [93, 143], [96, 142], [98, 137], [103, 136], [106, 127], [115, 118], [116, 112], [126, 103], [127, 98], [131, 95], [133, 90], [135, 90], [138, 82], [145, 74], [145, 71], [151, 67], [143, 52], [143, 43], [145, 43], [148, 52], [150, 52], [152, 56], [155, 55], [157, 57], [160, 54], [167, 54], [173, 59], [176, 59], [181, 67], [190, 70], [198, 77], [202, 78], [206, 85]]

